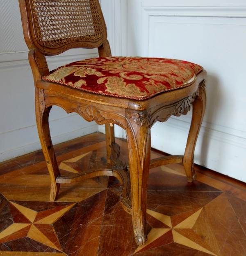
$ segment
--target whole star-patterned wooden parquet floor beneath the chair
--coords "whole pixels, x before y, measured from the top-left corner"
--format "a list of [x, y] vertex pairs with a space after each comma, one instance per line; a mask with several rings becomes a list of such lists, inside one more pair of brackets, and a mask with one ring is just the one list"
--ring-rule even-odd
[[[126, 142], [116, 142], [128, 161]], [[55, 151], [62, 173], [106, 164], [101, 133]], [[41, 151], [0, 163], [0, 256], [246, 255], [246, 185], [209, 170], [198, 168], [193, 184], [181, 164], [150, 170], [148, 242], [138, 248], [114, 177], [62, 184], [56, 202], [49, 192]]]

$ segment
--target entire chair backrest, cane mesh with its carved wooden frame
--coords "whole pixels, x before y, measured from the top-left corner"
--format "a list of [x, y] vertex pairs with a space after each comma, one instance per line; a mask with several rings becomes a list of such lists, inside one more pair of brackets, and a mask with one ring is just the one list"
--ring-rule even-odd
[[57, 55], [68, 49], [99, 47], [107, 29], [98, 0], [19, 0], [29, 49]]

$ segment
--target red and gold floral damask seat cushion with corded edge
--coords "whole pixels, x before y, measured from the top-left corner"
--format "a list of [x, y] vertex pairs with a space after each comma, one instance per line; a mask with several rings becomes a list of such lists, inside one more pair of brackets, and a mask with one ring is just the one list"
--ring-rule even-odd
[[59, 67], [43, 80], [91, 93], [145, 100], [193, 84], [202, 69], [194, 63], [173, 59], [100, 57]]

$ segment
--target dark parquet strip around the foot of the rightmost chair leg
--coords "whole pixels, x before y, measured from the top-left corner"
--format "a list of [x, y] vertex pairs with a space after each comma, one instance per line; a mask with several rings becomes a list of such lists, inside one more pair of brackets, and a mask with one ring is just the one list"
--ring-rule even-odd
[[148, 179], [148, 189], [166, 191], [220, 191], [207, 184], [195, 180], [187, 182], [187, 177], [164, 172], [161, 167], [159, 171], [151, 172]]

